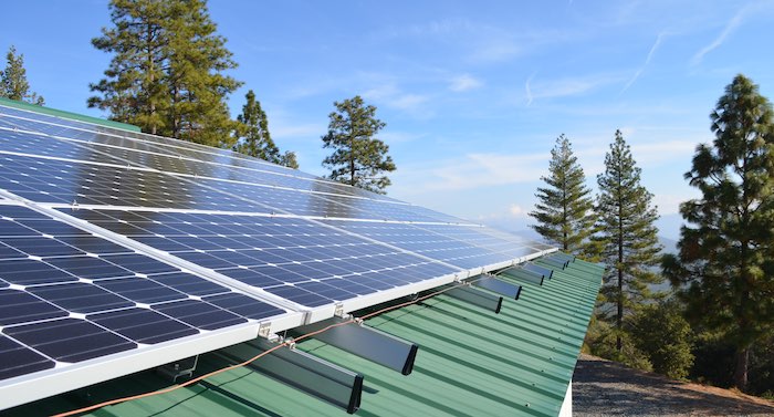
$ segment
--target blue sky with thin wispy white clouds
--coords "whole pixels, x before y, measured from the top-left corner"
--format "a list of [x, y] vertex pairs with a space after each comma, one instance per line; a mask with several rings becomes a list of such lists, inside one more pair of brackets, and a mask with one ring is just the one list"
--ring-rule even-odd
[[[398, 169], [388, 195], [509, 230], [527, 216], [565, 134], [596, 192], [616, 129], [653, 194], [660, 233], [679, 236], [683, 174], [709, 114], [745, 74], [774, 98], [774, 1], [210, 1], [243, 86], [282, 150], [324, 175], [335, 101], [360, 95], [387, 124]], [[24, 54], [46, 105], [87, 108], [111, 55], [103, 1], [10, 1], [0, 51]]]

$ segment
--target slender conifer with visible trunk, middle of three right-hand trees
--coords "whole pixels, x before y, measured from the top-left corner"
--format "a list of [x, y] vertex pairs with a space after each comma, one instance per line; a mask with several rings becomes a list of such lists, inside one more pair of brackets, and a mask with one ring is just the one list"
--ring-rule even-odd
[[651, 296], [648, 284], [662, 281], [649, 270], [658, 264], [661, 247], [653, 226], [658, 213], [651, 205], [652, 195], [640, 185], [640, 173], [624, 135], [616, 131], [610, 152], [605, 155], [605, 173], [597, 176], [598, 234], [594, 239], [599, 242], [602, 261], [608, 265], [600, 291], [600, 319], [614, 323], [619, 352], [625, 315]]

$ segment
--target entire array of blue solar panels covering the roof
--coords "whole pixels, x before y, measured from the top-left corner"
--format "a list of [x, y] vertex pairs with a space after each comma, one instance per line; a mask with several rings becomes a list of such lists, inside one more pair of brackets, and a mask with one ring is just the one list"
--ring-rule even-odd
[[230, 150], [0, 105], [0, 409], [546, 250]]

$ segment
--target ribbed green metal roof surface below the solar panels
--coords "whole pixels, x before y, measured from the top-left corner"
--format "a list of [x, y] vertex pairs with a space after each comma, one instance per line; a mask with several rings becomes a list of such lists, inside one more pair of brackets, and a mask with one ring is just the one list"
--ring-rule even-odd
[[[405, 306], [366, 324], [420, 345], [414, 372], [404, 376], [316, 340], [296, 347], [365, 375], [358, 416], [556, 416], [575, 368], [603, 268], [576, 260], [544, 284], [522, 284], [519, 300], [500, 314], [446, 295]], [[259, 359], [260, 361], [260, 359]], [[229, 365], [200, 357], [197, 374]], [[83, 395], [61, 395], [10, 410], [53, 414], [167, 386], [153, 372], [104, 383]], [[170, 394], [103, 407], [91, 416], [343, 416], [333, 405], [248, 368], [208, 378]]]

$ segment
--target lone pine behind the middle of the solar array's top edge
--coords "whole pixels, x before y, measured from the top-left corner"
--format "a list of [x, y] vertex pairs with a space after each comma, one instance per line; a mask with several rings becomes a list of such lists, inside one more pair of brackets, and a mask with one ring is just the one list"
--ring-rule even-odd
[[323, 136], [323, 147], [333, 148], [323, 160], [331, 169], [330, 178], [369, 191], [384, 194], [389, 178], [380, 176], [395, 170], [389, 147], [374, 136], [385, 127], [376, 118], [376, 107], [365, 105], [356, 95], [335, 102], [336, 111], [328, 115], [328, 133]]

